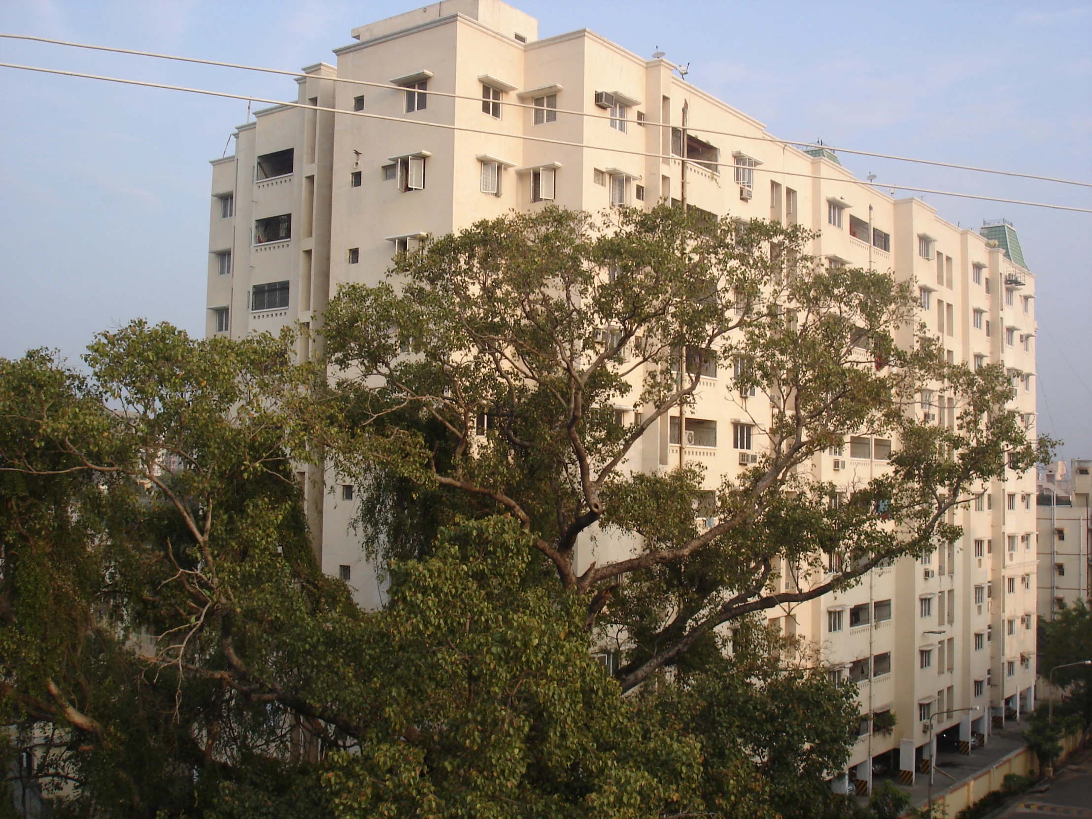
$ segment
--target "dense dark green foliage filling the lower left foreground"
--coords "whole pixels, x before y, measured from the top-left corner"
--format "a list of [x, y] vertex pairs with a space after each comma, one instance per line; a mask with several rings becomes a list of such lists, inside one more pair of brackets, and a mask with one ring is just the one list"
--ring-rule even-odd
[[[760, 625], [626, 697], [512, 515], [354, 605], [310, 548], [292, 339], [135, 322], [83, 371], [0, 359], [0, 708], [59, 816], [820, 815], [852, 685]], [[781, 653], [785, 660], [778, 660]], [[11, 802], [0, 803], [0, 816]]]

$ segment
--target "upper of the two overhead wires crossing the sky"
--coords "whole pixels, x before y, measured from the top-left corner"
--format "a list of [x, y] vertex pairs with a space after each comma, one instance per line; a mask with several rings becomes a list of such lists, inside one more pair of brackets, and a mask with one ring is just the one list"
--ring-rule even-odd
[[[191, 63], [195, 63], [195, 64], [200, 64], [200, 66], [215, 66], [215, 67], [218, 67], [218, 68], [239, 69], [239, 70], [242, 70], [242, 71], [258, 71], [258, 72], [262, 72], [262, 73], [266, 73], [266, 74], [278, 74], [281, 76], [292, 76], [292, 78], [297, 78], [297, 79], [298, 78], [316, 79], [313, 74], [307, 74], [307, 73], [302, 73], [302, 72], [299, 72], [299, 71], [286, 71], [284, 69], [272, 69], [272, 68], [264, 68], [264, 67], [261, 67], [261, 66], [247, 66], [247, 64], [244, 64], [244, 63], [224, 62], [224, 61], [221, 61], [221, 60], [205, 60], [205, 59], [201, 59], [201, 58], [198, 58], [198, 57], [181, 57], [181, 56], [178, 56], [178, 55], [158, 54], [156, 51], [139, 51], [139, 50], [131, 49], [131, 48], [116, 48], [116, 47], [112, 47], [112, 46], [96, 46], [96, 45], [92, 45], [92, 44], [87, 44], [87, 43], [71, 43], [69, 40], [50, 39], [49, 37], [36, 37], [36, 36], [33, 36], [33, 35], [28, 35], [28, 34], [3, 34], [3, 33], [0, 33], [0, 37], [7, 38], [7, 39], [31, 40], [31, 41], [35, 41], [35, 43], [48, 43], [50, 45], [67, 46], [67, 47], [70, 47], [70, 48], [86, 48], [86, 49], [91, 49], [91, 50], [94, 50], [94, 51], [109, 51], [109, 52], [112, 52], [112, 54], [124, 54], [124, 55], [132, 55], [132, 56], [136, 56], [136, 57], [152, 57], [152, 58], [161, 59], [161, 60], [175, 60], [175, 61], [178, 61], [178, 62], [191, 62]], [[341, 76], [324, 76], [324, 78], [318, 78], [318, 79], [321, 79], [321, 80], [324, 80], [324, 81], [328, 81], [328, 82], [345, 83], [345, 84], [348, 84], [348, 85], [363, 85], [363, 86], [373, 87], [373, 88], [385, 88], [385, 90], [393, 90], [393, 91], [404, 91], [404, 88], [402, 86], [400, 86], [400, 85], [393, 85], [391, 83], [372, 82], [372, 81], [368, 81], [368, 80], [351, 80], [348, 78], [341, 78]], [[480, 99], [482, 99], [480, 97], [471, 96], [468, 94], [452, 94], [450, 92], [442, 92], [442, 91], [429, 91], [428, 93], [431, 94], [431, 95], [434, 95], [434, 96], [449, 97], [449, 98], [452, 98], [452, 99], [468, 99], [468, 100], [472, 100], [472, 102], [480, 102]], [[512, 107], [512, 108], [530, 108], [530, 109], [536, 108], [535, 105], [529, 105], [526, 103], [505, 103], [505, 105], [509, 106], [509, 107]], [[596, 112], [593, 112], [593, 111], [570, 110], [570, 109], [565, 109], [565, 108], [551, 108], [550, 110], [555, 111], [557, 114], [566, 114], [566, 115], [571, 115], [571, 116], [577, 116], [577, 117], [603, 118], [603, 116], [604, 116], [604, 115], [596, 114]], [[667, 123], [649, 122], [648, 124], [652, 126], [652, 127], [661, 127], [661, 128], [669, 127]], [[687, 130], [688, 131], [696, 131], [698, 133], [703, 133], [703, 134], [712, 134], [712, 135], [716, 135], [716, 136], [732, 136], [734, 139], [755, 140], [755, 141], [758, 141], [758, 142], [773, 142], [773, 143], [776, 143], [776, 144], [780, 144], [780, 145], [787, 145], [787, 146], [791, 146], [791, 147], [797, 146], [797, 145], [805, 146], [805, 147], [815, 147], [815, 143], [811, 143], [811, 142], [802, 142], [802, 141], [798, 141], [798, 140], [779, 140], [779, 139], [776, 139], [774, 136], [771, 136], [770, 134], [765, 134], [765, 133], [763, 133], [762, 135], [756, 136], [753, 134], [733, 133], [731, 131], [715, 131], [715, 130], [711, 130], [711, 129], [708, 129], [708, 128], [701, 128], [701, 127], [689, 126], [689, 124], [687, 126]], [[952, 169], [956, 169], [956, 170], [973, 170], [973, 171], [976, 171], [976, 173], [980, 173], [980, 174], [997, 174], [997, 175], [1000, 175], [1000, 176], [1018, 177], [1018, 178], [1021, 178], [1021, 179], [1036, 179], [1038, 181], [1045, 181], [1045, 182], [1057, 182], [1058, 185], [1073, 185], [1073, 186], [1078, 186], [1078, 187], [1081, 187], [1081, 188], [1092, 188], [1092, 182], [1081, 182], [1081, 181], [1078, 181], [1078, 180], [1075, 180], [1075, 179], [1060, 179], [1058, 177], [1041, 176], [1041, 175], [1037, 175], [1037, 174], [1023, 174], [1023, 173], [1016, 171], [1016, 170], [999, 170], [997, 168], [983, 168], [983, 167], [977, 167], [977, 166], [974, 166], [974, 165], [961, 165], [961, 164], [951, 163], [951, 162], [940, 162], [938, 159], [921, 159], [921, 158], [916, 158], [916, 157], [912, 157], [912, 156], [899, 156], [897, 154], [881, 154], [881, 153], [877, 153], [875, 151], [860, 151], [860, 150], [857, 150], [857, 149], [841, 147], [841, 146], [835, 146], [835, 145], [823, 145], [823, 147], [826, 147], [826, 149], [828, 149], [830, 151], [841, 151], [842, 153], [845, 153], [845, 154], [855, 154], [857, 156], [874, 156], [874, 157], [877, 157], [877, 158], [880, 158], [880, 159], [893, 159], [893, 161], [897, 161], [897, 162], [909, 162], [909, 163], [916, 163], [916, 164], [919, 164], [919, 165], [933, 165], [933, 166], [942, 167], [942, 168], [952, 168]], [[899, 187], [899, 186], [887, 186], [887, 187], [891, 188], [891, 187]], [[922, 192], [936, 192], [936, 191], [923, 191], [922, 189], [918, 189], [918, 188], [902, 188], [902, 190], [915, 190], [915, 191], [922, 191]], [[952, 194], [952, 195], [954, 195], [954, 194]], [[1004, 200], [1001, 200], [1001, 201], [1004, 201]]]

